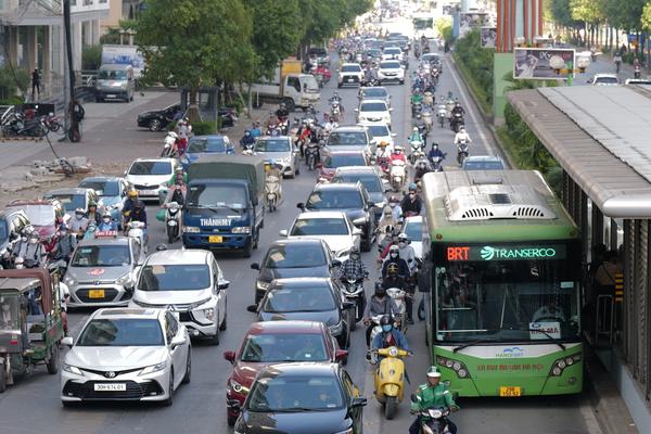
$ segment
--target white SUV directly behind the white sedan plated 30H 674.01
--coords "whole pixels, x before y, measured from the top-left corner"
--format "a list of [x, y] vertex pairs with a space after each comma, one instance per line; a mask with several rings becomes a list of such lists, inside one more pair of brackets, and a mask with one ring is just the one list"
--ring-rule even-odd
[[226, 330], [229, 284], [212, 252], [158, 251], [144, 261], [129, 306], [177, 312], [192, 337], [218, 345], [219, 331]]

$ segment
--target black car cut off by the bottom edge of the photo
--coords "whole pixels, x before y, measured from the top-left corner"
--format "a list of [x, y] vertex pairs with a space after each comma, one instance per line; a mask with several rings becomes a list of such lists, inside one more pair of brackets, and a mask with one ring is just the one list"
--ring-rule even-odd
[[337, 363], [270, 365], [253, 383], [234, 431], [361, 434], [366, 404]]

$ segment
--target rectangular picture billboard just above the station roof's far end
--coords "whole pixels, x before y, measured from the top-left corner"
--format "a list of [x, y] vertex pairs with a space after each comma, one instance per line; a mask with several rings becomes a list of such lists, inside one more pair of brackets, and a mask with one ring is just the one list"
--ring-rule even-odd
[[528, 80], [567, 79], [557, 69], [573, 68], [575, 52], [557, 48], [513, 49], [513, 78]]

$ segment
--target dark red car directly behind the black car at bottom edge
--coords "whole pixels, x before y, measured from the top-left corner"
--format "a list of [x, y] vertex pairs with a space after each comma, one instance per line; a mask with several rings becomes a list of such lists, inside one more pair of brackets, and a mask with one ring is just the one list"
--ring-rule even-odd
[[[228, 424], [234, 425], [246, 394], [258, 372], [268, 365], [301, 361], [342, 361], [348, 352], [340, 349], [336, 340], [322, 322], [266, 321], [254, 322], [244, 335], [238, 353], [225, 352], [224, 358], [233, 365], [226, 383]], [[233, 407], [233, 404], [239, 404]]]

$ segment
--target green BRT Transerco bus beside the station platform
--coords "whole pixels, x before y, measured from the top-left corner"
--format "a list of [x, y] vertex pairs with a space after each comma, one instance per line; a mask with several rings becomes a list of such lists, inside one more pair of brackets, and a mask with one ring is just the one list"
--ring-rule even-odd
[[579, 393], [580, 237], [541, 175], [431, 173], [422, 186], [427, 342], [450, 390]]

